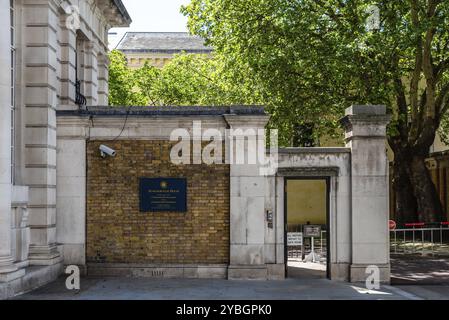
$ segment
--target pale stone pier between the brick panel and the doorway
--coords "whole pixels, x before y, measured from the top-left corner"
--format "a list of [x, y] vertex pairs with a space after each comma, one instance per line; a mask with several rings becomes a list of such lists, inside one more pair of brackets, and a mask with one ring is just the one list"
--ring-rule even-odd
[[[243, 130], [245, 139], [256, 138], [258, 129], [264, 129], [268, 116], [225, 115], [230, 130]], [[252, 132], [252, 133], [251, 133]], [[246, 134], [248, 133], [248, 134]], [[242, 137], [242, 136], [241, 136]], [[232, 145], [236, 148], [238, 138]], [[230, 139], [228, 137], [228, 143]], [[229, 144], [228, 144], [229, 146]], [[236, 150], [236, 149], [234, 149]], [[230, 150], [234, 156], [230, 165], [230, 265], [229, 279], [267, 279], [265, 262], [265, 193], [267, 177], [260, 174], [258, 164], [238, 164], [238, 152]], [[244, 146], [245, 158], [254, 155]]]

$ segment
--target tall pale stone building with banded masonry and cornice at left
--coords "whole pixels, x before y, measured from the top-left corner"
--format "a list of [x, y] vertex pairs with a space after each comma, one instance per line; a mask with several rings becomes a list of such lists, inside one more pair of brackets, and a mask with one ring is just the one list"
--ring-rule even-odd
[[56, 111], [107, 104], [108, 30], [130, 22], [120, 0], [0, 1], [0, 297], [61, 270]]

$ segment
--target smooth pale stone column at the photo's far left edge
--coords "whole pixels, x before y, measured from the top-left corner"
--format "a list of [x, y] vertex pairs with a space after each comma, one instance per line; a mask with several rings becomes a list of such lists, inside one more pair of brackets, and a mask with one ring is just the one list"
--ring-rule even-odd
[[0, 0], [0, 282], [23, 275], [11, 247], [11, 43], [9, 0]]

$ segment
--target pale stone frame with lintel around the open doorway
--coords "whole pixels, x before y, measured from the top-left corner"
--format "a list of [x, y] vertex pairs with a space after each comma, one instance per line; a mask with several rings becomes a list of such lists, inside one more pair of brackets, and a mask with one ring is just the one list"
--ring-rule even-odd
[[[349, 148], [287, 148], [279, 150], [275, 177], [278, 224], [285, 224], [285, 180], [317, 178], [328, 180], [329, 250], [327, 276], [349, 280], [350, 261], [350, 158]], [[337, 224], [338, 220], [338, 224]], [[284, 246], [285, 247], [285, 246]]]

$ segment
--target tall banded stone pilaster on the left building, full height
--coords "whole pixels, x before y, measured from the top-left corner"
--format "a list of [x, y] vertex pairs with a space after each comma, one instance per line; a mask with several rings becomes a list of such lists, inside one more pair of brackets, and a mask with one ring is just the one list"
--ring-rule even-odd
[[25, 183], [29, 186], [30, 264], [60, 261], [56, 247], [58, 8], [24, 0]]

